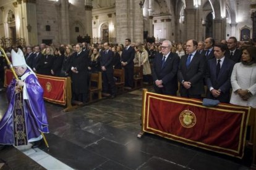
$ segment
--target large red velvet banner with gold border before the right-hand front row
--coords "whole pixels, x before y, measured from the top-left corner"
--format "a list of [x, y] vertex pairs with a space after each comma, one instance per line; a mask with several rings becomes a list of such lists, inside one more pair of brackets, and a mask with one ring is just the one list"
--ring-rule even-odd
[[242, 158], [250, 108], [147, 92], [143, 131], [184, 144]]

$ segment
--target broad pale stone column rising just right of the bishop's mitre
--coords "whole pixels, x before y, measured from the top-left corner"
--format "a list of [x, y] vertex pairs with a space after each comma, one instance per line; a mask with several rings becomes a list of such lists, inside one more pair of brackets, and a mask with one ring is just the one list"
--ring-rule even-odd
[[26, 44], [38, 44], [37, 20], [36, 20], [36, 0], [23, 0], [25, 11], [25, 23], [27, 23], [24, 38]]

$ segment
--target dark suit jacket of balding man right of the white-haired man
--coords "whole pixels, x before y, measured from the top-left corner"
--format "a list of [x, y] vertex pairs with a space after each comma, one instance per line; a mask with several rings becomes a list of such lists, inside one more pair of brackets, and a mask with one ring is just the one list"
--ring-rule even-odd
[[[188, 54], [181, 57], [179, 62], [178, 79], [182, 83], [182, 80], [189, 81], [191, 87], [188, 89], [190, 95], [205, 94], [203, 86], [203, 76], [205, 75], [205, 57], [198, 52], [195, 53], [193, 59], [190, 62], [189, 67], [186, 66]], [[181, 84], [180, 93], [186, 94], [187, 89]]]

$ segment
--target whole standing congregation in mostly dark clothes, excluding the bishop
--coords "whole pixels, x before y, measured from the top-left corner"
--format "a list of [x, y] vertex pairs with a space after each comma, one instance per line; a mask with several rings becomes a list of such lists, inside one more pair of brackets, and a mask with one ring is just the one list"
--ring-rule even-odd
[[[256, 107], [256, 47], [252, 42], [238, 42], [235, 37], [215, 42], [189, 39], [186, 43], [136, 44], [61, 44], [59, 47], [27, 46], [20, 48], [28, 67], [35, 73], [72, 78], [72, 100], [87, 102], [90, 73], [102, 72], [103, 95], [116, 96], [114, 69], [124, 69], [125, 86], [134, 86], [134, 67], [143, 67], [143, 82], [156, 93], [202, 99], [207, 98]], [[0, 81], [4, 79], [4, 58], [0, 60]], [[179, 87], [178, 87], [179, 83]], [[233, 91], [231, 92], [231, 89]], [[230, 94], [231, 92], [231, 94]], [[231, 96], [231, 99], [230, 99]]]

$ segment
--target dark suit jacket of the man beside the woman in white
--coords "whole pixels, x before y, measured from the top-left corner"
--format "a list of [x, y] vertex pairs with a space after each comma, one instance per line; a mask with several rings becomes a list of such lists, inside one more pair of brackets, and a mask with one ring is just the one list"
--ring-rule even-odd
[[[217, 99], [220, 102], [229, 103], [229, 95], [231, 89], [231, 73], [233, 71], [235, 62], [228, 58], [224, 58], [223, 64], [221, 65], [220, 73], [218, 77], [216, 76], [216, 59], [208, 60], [207, 62], [207, 71], [205, 76], [205, 81], [207, 84], [207, 98], [208, 99]], [[210, 87], [218, 90], [221, 89], [221, 95], [217, 98], [213, 97], [210, 92]]]

